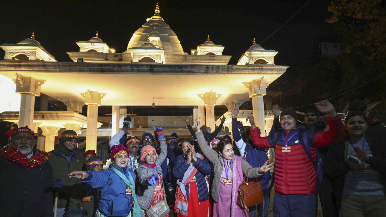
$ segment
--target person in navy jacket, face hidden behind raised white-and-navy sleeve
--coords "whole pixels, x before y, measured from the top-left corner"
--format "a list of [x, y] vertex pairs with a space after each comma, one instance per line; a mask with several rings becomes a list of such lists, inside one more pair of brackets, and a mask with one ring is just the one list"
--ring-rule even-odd
[[[232, 133], [233, 139], [237, 145], [237, 148], [240, 151], [240, 156], [244, 157], [252, 168], [261, 167], [267, 160], [267, 152], [265, 148], [251, 146], [250, 143], [244, 142], [240, 136], [239, 128], [237, 127], [237, 114], [239, 114], [239, 108], [232, 107]], [[248, 134], [249, 140], [252, 141], [250, 134]], [[264, 204], [259, 203], [257, 205], [258, 217], [267, 216], [268, 206], [269, 206], [269, 180], [271, 179], [270, 173], [264, 173], [263, 176], [257, 178], [256, 181], [259, 181], [261, 184], [261, 190], [264, 196]], [[249, 207], [249, 214], [251, 217], [256, 216], [256, 205]]]

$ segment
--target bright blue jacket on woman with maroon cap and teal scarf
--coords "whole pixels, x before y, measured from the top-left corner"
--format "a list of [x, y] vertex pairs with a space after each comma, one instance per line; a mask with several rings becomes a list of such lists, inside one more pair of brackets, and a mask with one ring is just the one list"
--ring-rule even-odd
[[[127, 167], [122, 170], [113, 165], [122, 172], [130, 181], [129, 173], [135, 181], [135, 173], [128, 170]], [[126, 184], [112, 168], [102, 170], [99, 173], [86, 171], [88, 178], [83, 182], [88, 183], [92, 188], [100, 188], [102, 192], [99, 200], [99, 211], [105, 216], [127, 216], [129, 215], [132, 203], [131, 196], [126, 195]]]

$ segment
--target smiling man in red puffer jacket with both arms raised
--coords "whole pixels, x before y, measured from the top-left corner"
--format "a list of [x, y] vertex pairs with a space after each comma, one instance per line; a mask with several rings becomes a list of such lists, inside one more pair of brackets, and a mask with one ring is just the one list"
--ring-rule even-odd
[[254, 118], [247, 117], [252, 125], [253, 144], [258, 147], [275, 148], [274, 217], [316, 216], [317, 174], [301, 142], [308, 145], [315, 161], [316, 147], [327, 146], [343, 139], [344, 125], [330, 102], [321, 101], [315, 103], [315, 107], [319, 112], [327, 114], [329, 131], [313, 132], [303, 125], [296, 125], [296, 112], [284, 109], [280, 114], [283, 132], [260, 137]]

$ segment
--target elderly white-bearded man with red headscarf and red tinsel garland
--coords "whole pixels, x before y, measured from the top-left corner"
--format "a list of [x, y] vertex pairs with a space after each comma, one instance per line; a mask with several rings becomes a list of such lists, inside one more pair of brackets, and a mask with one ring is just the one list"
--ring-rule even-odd
[[11, 139], [0, 149], [0, 216], [53, 216], [49, 154], [33, 150], [35, 133], [27, 126], [6, 134]]

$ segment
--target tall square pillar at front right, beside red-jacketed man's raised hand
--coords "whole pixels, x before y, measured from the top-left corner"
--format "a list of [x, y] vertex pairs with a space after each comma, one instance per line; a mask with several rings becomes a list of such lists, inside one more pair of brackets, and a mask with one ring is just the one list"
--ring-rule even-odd
[[263, 96], [267, 93], [267, 82], [262, 76], [259, 80], [252, 80], [251, 82], [243, 82], [249, 90], [249, 97], [252, 98], [253, 117], [255, 124], [260, 128], [261, 136], [265, 136], [265, 112]]

